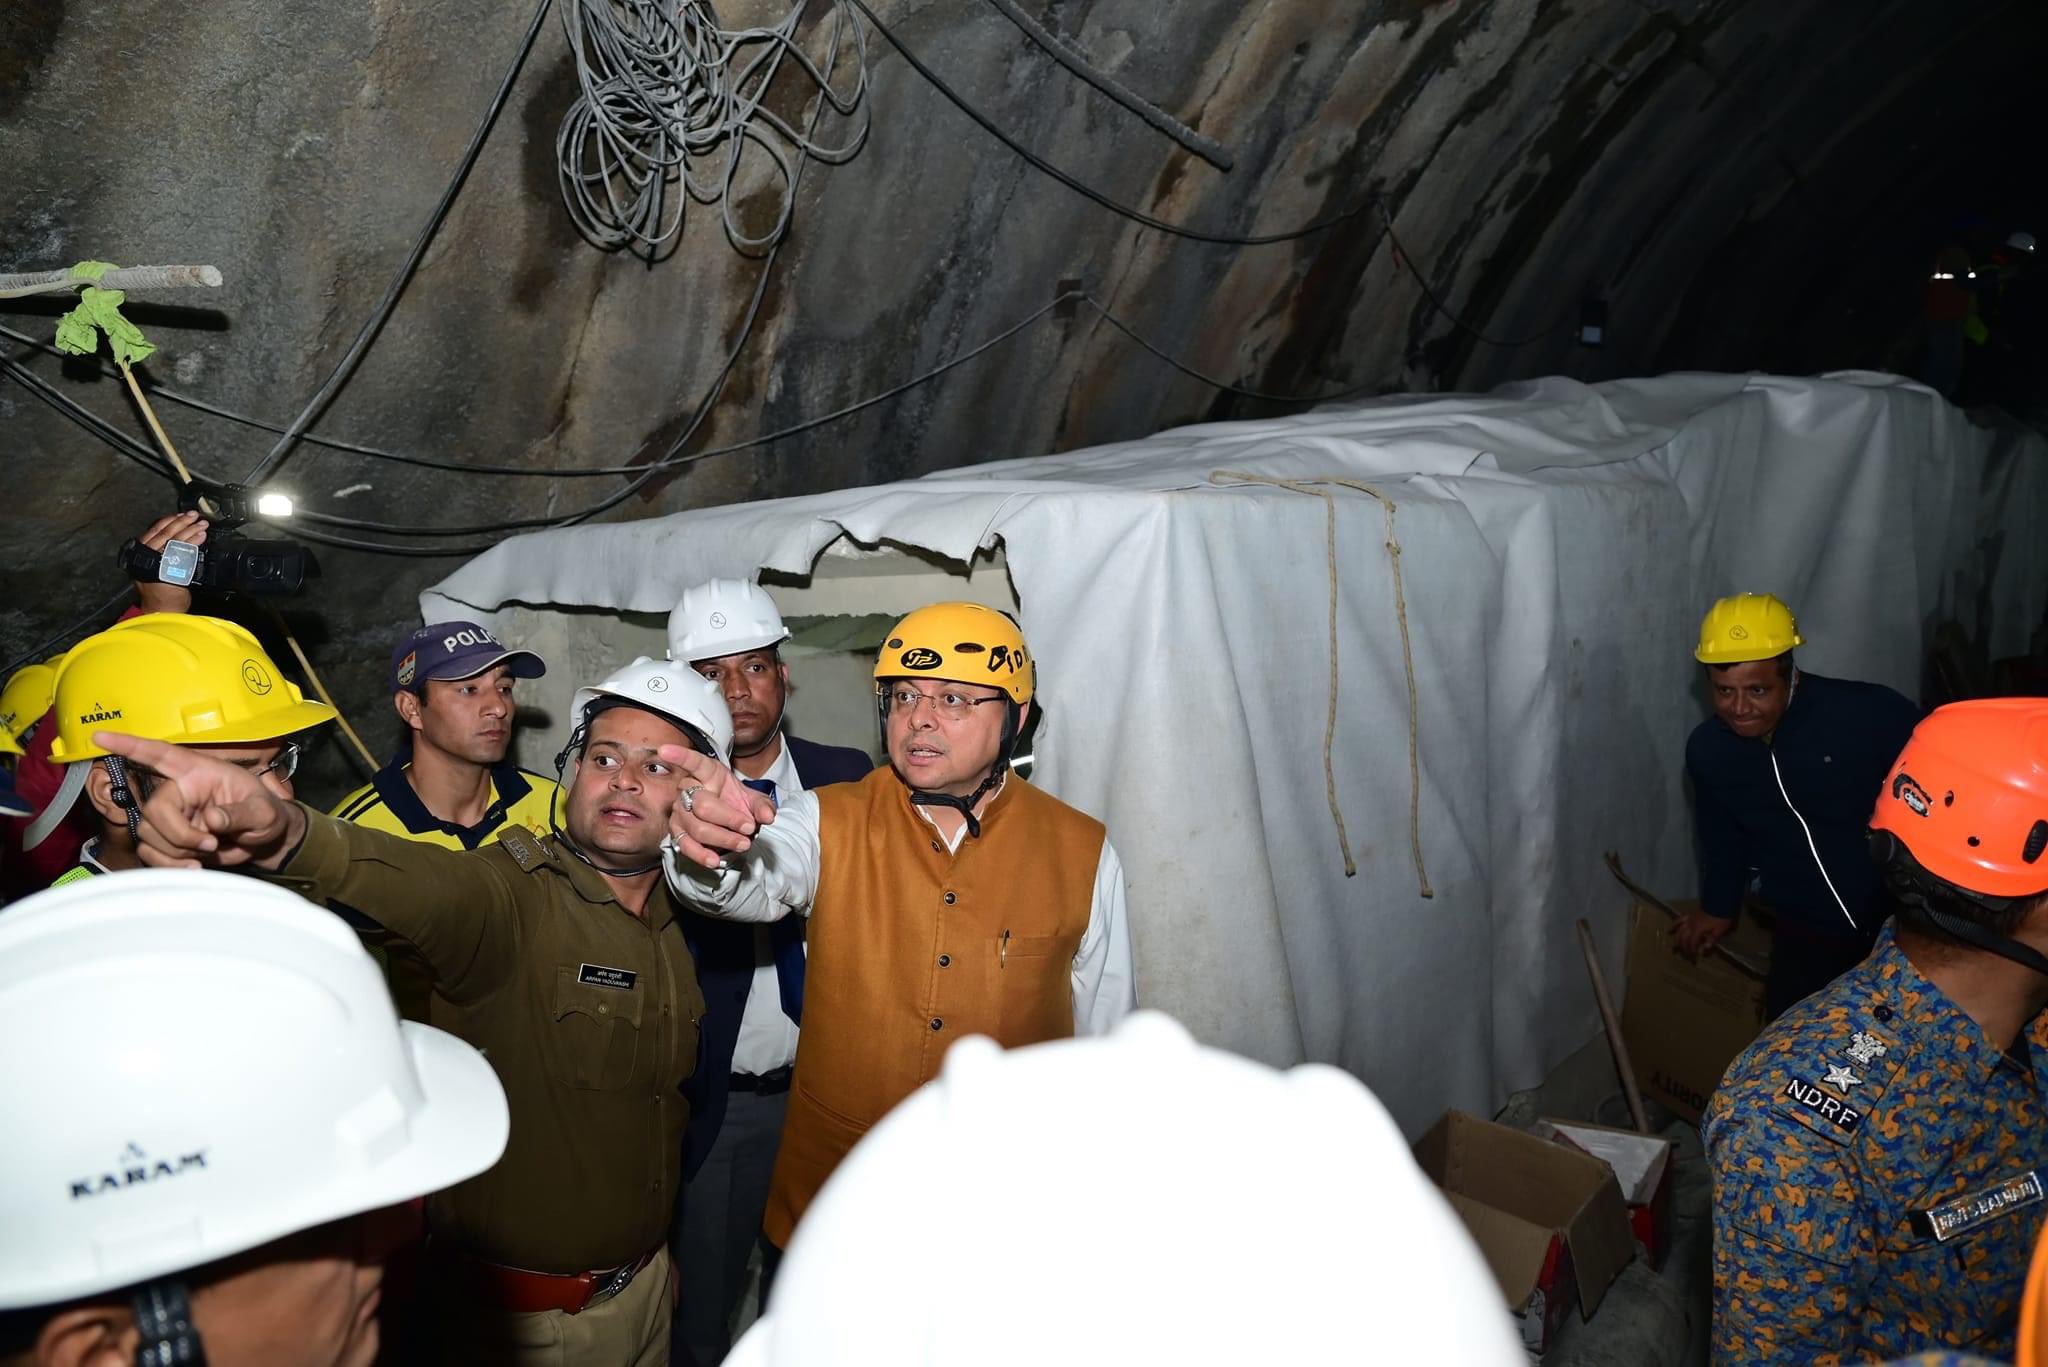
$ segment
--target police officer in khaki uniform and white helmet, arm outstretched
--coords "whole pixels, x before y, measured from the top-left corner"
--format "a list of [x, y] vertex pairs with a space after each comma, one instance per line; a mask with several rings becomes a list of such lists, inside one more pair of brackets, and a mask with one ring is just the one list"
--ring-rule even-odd
[[659, 748], [723, 760], [731, 713], [686, 664], [655, 660], [573, 707], [567, 830], [479, 851], [348, 826], [244, 769], [96, 734], [166, 779], [143, 807], [145, 863], [258, 871], [381, 920], [434, 967], [432, 1023], [498, 1068], [506, 1156], [428, 1207], [440, 1363], [668, 1363], [702, 996], [662, 883], [680, 773]]

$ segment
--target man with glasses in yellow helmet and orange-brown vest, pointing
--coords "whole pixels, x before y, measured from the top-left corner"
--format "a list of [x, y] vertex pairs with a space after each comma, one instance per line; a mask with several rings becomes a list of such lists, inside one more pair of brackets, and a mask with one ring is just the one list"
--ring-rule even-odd
[[1135, 1006], [1102, 824], [1010, 773], [1036, 666], [1008, 613], [924, 607], [874, 664], [889, 764], [780, 805], [682, 750], [670, 885], [711, 916], [809, 918], [803, 1035], [764, 1234], [770, 1265], [831, 1170], [938, 1076], [954, 1039], [1108, 1031]]

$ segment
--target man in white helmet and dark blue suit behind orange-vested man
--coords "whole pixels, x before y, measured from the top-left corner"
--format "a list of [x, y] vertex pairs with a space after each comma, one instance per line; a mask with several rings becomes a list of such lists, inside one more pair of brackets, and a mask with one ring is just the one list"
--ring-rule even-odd
[[[686, 660], [717, 682], [731, 707], [733, 771], [774, 799], [848, 783], [874, 767], [860, 750], [782, 734], [784, 639], [782, 615], [750, 580], [698, 584], [668, 619], [670, 660]], [[670, 1234], [682, 1281], [672, 1334], [676, 1363], [711, 1367], [731, 1349], [731, 1318], [760, 1238], [797, 1062], [803, 926], [801, 916], [754, 926], [684, 914], [705, 1021], [696, 1072], [684, 1088], [690, 1129]]]

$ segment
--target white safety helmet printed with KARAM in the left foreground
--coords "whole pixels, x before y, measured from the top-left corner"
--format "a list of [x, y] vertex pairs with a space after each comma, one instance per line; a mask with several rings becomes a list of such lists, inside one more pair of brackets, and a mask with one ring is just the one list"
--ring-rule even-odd
[[0, 914], [0, 1310], [150, 1283], [504, 1154], [498, 1074], [401, 1023], [336, 916], [231, 873]]

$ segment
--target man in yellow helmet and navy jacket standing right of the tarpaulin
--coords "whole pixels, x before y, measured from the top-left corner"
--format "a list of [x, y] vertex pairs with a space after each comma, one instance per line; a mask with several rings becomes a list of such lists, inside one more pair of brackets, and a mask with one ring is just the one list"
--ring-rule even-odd
[[1919, 709], [1870, 682], [1798, 668], [1792, 609], [1735, 594], [1708, 609], [1694, 658], [1714, 715], [1686, 742], [1700, 846], [1700, 910], [1677, 947], [1706, 953], [1743, 894], [1772, 912], [1767, 1019], [1855, 967], [1890, 914], [1864, 853], [1870, 805]]

